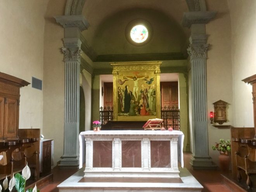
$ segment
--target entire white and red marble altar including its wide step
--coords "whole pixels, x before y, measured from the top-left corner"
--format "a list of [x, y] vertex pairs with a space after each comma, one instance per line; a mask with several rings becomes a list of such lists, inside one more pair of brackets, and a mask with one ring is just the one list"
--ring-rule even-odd
[[183, 138], [181, 131], [81, 132], [80, 170], [59, 192], [200, 192], [183, 168]]

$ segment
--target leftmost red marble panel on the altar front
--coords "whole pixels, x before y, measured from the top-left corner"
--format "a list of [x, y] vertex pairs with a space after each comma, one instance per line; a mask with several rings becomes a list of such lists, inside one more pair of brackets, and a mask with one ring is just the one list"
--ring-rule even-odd
[[112, 141], [93, 141], [93, 167], [112, 167]]

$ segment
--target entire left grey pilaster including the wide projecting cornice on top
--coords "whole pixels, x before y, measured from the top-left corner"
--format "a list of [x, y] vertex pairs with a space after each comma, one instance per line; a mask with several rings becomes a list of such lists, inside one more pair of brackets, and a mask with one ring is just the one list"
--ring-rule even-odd
[[80, 65], [81, 31], [88, 28], [82, 15], [55, 16], [64, 30], [65, 103], [64, 103], [64, 154], [59, 167], [79, 166], [79, 112], [80, 112]]

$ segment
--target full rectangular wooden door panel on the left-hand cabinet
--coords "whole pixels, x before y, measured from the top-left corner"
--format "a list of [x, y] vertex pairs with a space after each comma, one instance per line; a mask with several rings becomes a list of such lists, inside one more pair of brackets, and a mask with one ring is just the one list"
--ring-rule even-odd
[[5, 140], [17, 138], [17, 99], [5, 99], [3, 137]]

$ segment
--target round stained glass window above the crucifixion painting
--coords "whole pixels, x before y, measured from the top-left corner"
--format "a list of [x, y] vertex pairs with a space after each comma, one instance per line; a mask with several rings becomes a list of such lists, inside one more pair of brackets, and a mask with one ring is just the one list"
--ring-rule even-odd
[[149, 36], [149, 32], [147, 31], [147, 28], [143, 25], [136, 25], [131, 29], [131, 39], [135, 43], [142, 43], [147, 40]]

